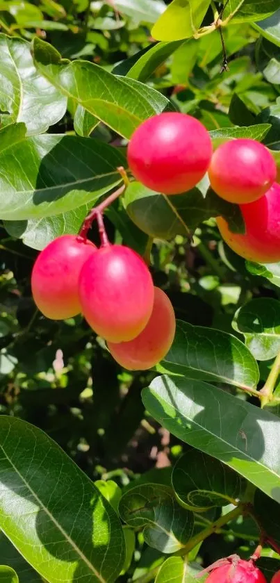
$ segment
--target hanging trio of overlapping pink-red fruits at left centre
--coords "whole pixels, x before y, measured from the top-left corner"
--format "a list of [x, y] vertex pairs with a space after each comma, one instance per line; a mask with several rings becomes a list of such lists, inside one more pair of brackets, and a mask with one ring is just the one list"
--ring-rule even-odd
[[88, 239], [58, 237], [38, 255], [31, 288], [47, 318], [83, 313], [124, 368], [147, 370], [170, 350], [174, 309], [165, 292], [154, 287], [145, 261], [129, 247], [97, 249]]

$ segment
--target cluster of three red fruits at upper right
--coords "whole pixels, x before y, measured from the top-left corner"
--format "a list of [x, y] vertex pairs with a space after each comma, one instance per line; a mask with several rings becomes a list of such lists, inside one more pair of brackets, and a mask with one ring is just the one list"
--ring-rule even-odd
[[245, 234], [217, 218], [222, 238], [240, 256], [280, 261], [280, 185], [270, 151], [252, 139], [233, 139], [213, 153], [204, 126], [190, 115], [163, 113], [142, 123], [131, 138], [129, 167], [147, 188], [176, 195], [194, 188], [206, 172], [216, 194], [240, 205]]

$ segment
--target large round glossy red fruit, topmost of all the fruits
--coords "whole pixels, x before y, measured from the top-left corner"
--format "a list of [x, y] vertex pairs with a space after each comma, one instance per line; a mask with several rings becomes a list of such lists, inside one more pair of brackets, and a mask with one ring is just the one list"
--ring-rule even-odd
[[160, 113], [135, 130], [128, 161], [148, 188], [174, 195], [193, 188], [206, 174], [212, 143], [204, 126], [185, 113]]

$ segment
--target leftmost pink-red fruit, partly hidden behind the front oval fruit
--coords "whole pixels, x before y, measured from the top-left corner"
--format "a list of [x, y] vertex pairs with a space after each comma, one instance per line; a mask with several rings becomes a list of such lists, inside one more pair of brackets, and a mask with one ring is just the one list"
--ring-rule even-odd
[[89, 240], [63, 235], [40, 252], [33, 266], [31, 289], [36, 306], [47, 318], [65, 320], [81, 312], [79, 275], [95, 250]]

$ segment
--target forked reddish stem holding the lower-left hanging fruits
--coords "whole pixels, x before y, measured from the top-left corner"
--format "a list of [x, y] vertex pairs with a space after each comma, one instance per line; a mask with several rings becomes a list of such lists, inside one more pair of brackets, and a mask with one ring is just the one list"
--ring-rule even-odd
[[113, 192], [103, 202], [101, 202], [100, 204], [98, 204], [97, 206], [94, 206], [94, 208], [92, 208], [92, 210], [90, 211], [88, 216], [85, 217], [85, 220], [83, 221], [83, 224], [82, 224], [81, 229], [79, 231], [80, 238], [82, 238], [82, 239], [87, 238], [88, 231], [90, 230], [90, 227], [92, 226], [92, 222], [94, 221], [94, 219], [96, 219], [97, 224], [98, 224], [98, 229], [99, 229], [100, 240], [101, 240], [101, 247], [109, 245], [106, 229], [104, 227], [103, 213], [104, 213], [105, 209], [108, 206], [110, 206], [110, 204], [112, 204], [118, 197], [120, 197], [123, 194], [124, 190], [126, 189], [126, 186], [129, 186], [129, 178], [126, 174], [126, 171], [124, 170], [124, 167], [120, 166], [117, 168], [117, 170], [118, 170], [118, 172], [120, 172], [120, 175], [122, 176], [124, 184], [122, 184], [122, 186], [120, 186], [120, 188], [117, 188], [117, 190], [115, 190], [115, 192]]

